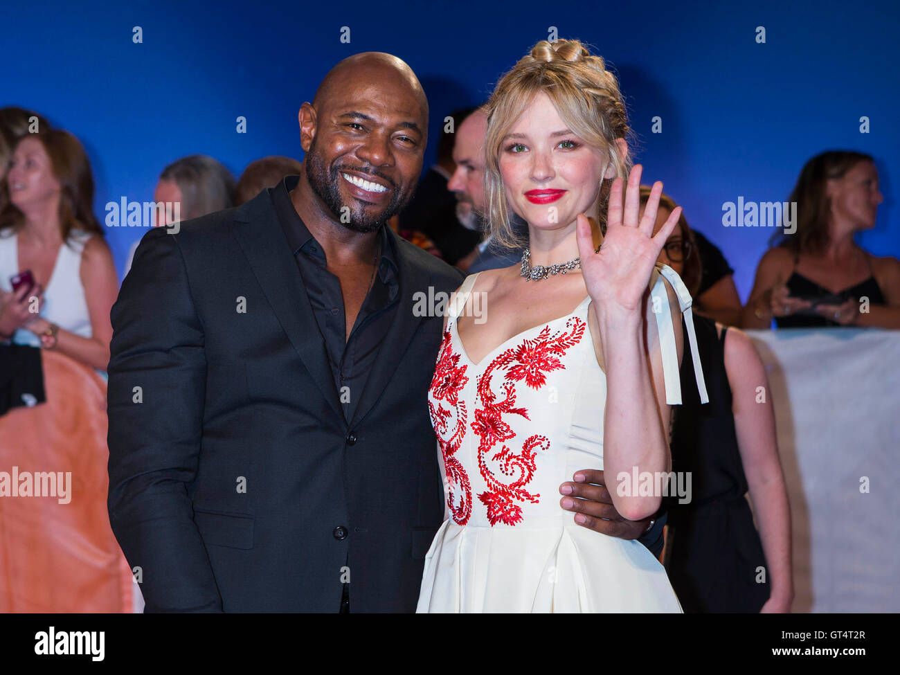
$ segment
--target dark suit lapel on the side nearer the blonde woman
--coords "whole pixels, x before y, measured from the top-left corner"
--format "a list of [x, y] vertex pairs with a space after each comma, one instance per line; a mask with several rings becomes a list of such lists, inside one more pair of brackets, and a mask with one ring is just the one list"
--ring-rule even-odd
[[[416, 265], [411, 260], [406, 252], [409, 245], [405, 241], [401, 241], [401, 238], [394, 234], [391, 229], [388, 229], [388, 236], [393, 238], [394, 250], [397, 251], [400, 299], [391, 328], [388, 329], [387, 334], [382, 339], [382, 345], [379, 347], [374, 368], [372, 373], [369, 374], [369, 379], [365, 383], [359, 403], [356, 405], [350, 428], [362, 421], [381, 398], [384, 388], [391, 380], [394, 371], [397, 370], [397, 366], [400, 365], [401, 359], [406, 355], [406, 350], [410, 346], [413, 334], [419, 328], [419, 323], [424, 319], [424, 317], [417, 317], [412, 313], [412, 308], [415, 304], [413, 295], [419, 291], [428, 294], [428, 284], [431, 276], [423, 266]], [[429, 364], [423, 366], [429, 367]]]

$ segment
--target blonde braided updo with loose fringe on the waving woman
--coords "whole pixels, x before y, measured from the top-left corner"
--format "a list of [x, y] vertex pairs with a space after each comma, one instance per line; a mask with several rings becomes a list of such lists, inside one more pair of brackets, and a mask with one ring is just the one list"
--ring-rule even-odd
[[[510, 224], [500, 154], [503, 138], [541, 92], [550, 97], [572, 132], [609, 157], [617, 176], [627, 180], [631, 170], [631, 153], [621, 157], [615, 142], [625, 139], [627, 143], [632, 135], [616, 76], [607, 70], [603, 58], [591, 55], [580, 40], [541, 40], [500, 78], [487, 103], [484, 179], [491, 241], [496, 247], [527, 246]], [[611, 184], [612, 179], [601, 179], [599, 213], [588, 214], [597, 219], [603, 233]]]

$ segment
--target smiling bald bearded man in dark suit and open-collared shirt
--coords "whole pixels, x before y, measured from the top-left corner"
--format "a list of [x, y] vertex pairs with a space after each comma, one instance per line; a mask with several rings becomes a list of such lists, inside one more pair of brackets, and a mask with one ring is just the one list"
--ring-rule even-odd
[[302, 175], [150, 229], [112, 308], [109, 513], [147, 611], [413, 611], [443, 490], [427, 392], [462, 282], [384, 227], [428, 101], [409, 66], [334, 67]]

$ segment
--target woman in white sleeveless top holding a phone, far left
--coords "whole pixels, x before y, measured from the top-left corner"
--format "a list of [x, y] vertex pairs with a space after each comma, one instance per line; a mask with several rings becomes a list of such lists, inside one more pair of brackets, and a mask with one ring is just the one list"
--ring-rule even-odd
[[[55, 349], [105, 371], [119, 290], [94, 217], [94, 178], [72, 134], [48, 130], [16, 145], [0, 212], [0, 340]], [[34, 287], [13, 292], [30, 270]]]

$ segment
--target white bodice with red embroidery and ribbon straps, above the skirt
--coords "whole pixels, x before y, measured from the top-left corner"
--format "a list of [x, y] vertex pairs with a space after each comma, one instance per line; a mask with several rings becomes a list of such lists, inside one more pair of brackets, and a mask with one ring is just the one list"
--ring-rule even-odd
[[[668, 294], [657, 266], [653, 302], [667, 374], [667, 398], [680, 403], [679, 364]], [[559, 485], [579, 469], [603, 468], [607, 378], [588, 327], [590, 296], [571, 314], [522, 331], [478, 364], [457, 332], [477, 275], [450, 303], [428, 408], [445, 465], [450, 518], [457, 525], [515, 527], [573, 514], [559, 506]], [[687, 291], [685, 290], [685, 294]], [[682, 293], [679, 293], [680, 302]], [[689, 311], [690, 298], [682, 302]], [[693, 322], [689, 344], [696, 345]], [[669, 363], [666, 363], [669, 362]], [[698, 371], [701, 398], [707, 400]]]

